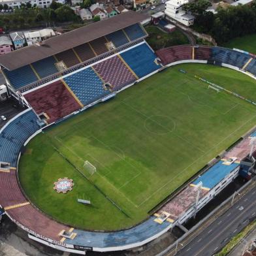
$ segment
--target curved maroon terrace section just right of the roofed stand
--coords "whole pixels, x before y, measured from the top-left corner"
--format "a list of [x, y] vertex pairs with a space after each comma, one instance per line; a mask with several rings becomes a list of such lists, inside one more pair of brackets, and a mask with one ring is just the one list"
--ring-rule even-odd
[[191, 59], [192, 48], [191, 46], [187, 46], [187, 45], [171, 46], [168, 48], [163, 48], [161, 50], [158, 50], [156, 54], [161, 59], [163, 65], [167, 65], [175, 61]]

